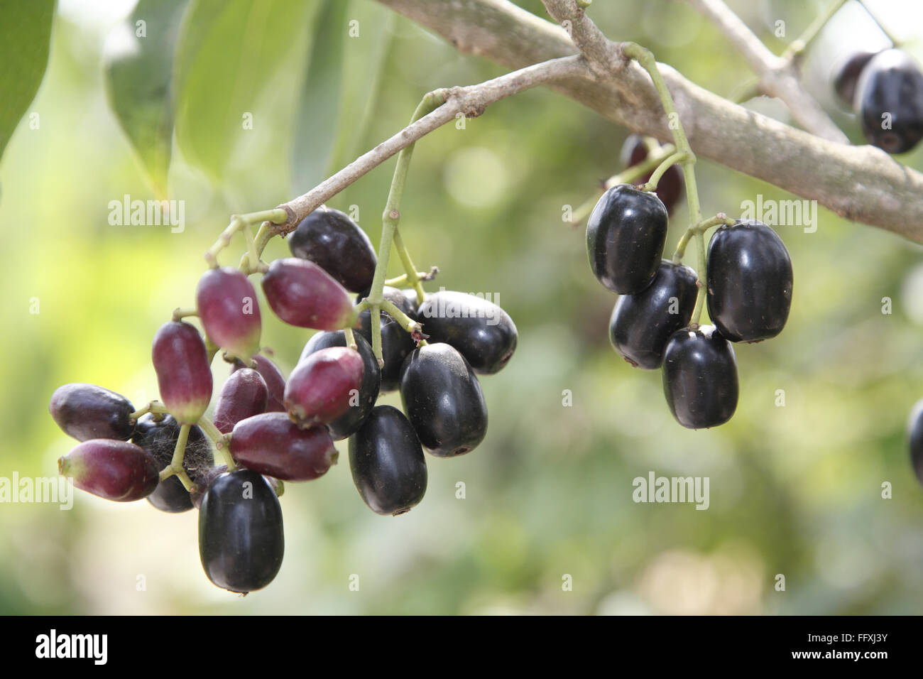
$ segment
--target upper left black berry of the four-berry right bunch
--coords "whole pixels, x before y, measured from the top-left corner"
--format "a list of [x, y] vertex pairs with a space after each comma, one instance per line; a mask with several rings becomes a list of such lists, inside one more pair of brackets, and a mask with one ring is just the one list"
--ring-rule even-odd
[[664, 254], [666, 222], [666, 208], [655, 194], [628, 184], [608, 189], [586, 224], [593, 275], [619, 295], [641, 292]]

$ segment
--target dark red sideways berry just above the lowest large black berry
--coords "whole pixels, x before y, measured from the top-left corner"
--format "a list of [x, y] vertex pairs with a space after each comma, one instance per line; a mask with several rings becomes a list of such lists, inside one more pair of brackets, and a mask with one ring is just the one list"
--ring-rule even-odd
[[301, 429], [284, 413], [237, 422], [230, 450], [244, 467], [283, 481], [318, 479], [339, 456], [325, 428]]

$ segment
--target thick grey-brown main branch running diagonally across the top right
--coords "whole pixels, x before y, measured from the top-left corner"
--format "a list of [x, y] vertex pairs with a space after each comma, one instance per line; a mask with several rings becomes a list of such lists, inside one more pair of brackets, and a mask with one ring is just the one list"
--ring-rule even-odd
[[[506, 0], [378, 2], [440, 34], [459, 51], [505, 67], [579, 53], [566, 30]], [[575, 41], [592, 39], [595, 31], [581, 29], [592, 22], [575, 0], [549, 0], [548, 6], [553, 17], [570, 21]], [[588, 61], [594, 54], [585, 42], [583, 54]], [[583, 73], [547, 84], [633, 132], [671, 139], [659, 98], [641, 67], [629, 63], [607, 71], [605, 78], [599, 70], [597, 62], [587, 68], [593, 79]], [[749, 111], [672, 67], [661, 64], [660, 71], [698, 157], [817, 200], [848, 219], [923, 242], [923, 175], [916, 170], [874, 147], [822, 139]], [[714, 207], [730, 212], [734, 206]]]

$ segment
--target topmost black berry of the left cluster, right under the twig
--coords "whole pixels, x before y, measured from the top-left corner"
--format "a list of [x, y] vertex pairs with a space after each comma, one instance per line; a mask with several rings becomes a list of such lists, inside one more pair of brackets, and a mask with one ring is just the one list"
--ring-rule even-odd
[[321, 206], [295, 227], [288, 241], [295, 257], [313, 261], [347, 290], [361, 292], [372, 285], [375, 248], [348, 214]]

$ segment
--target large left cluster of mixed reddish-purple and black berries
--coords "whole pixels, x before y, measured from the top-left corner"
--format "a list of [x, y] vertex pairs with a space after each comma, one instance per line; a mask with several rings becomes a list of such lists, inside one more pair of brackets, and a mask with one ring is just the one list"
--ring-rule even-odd
[[[344, 213], [320, 208], [289, 245], [294, 257], [263, 274], [264, 295], [282, 321], [322, 332], [288, 380], [258, 353], [253, 285], [244, 273], [215, 268], [196, 291], [205, 337], [176, 317], [154, 336], [162, 405], [136, 410], [120, 394], [73, 383], [49, 406], [81, 442], [59, 460], [61, 474], [108, 500], [147, 498], [165, 512], [197, 507], [202, 566], [215, 585], [238, 592], [265, 587], [282, 565], [282, 481], [318, 479], [337, 462], [333, 442], [348, 438], [366, 504], [381, 515], [409, 511], [426, 491], [424, 449], [462, 455], [484, 439], [487, 410], [475, 373], [502, 369], [517, 344], [509, 315], [485, 298], [440, 290], [417, 304], [415, 293], [386, 287], [384, 297], [427, 334], [412, 336], [382, 312], [379, 365], [371, 313], [356, 315], [350, 294], [367, 294], [376, 269], [365, 232]], [[219, 349], [233, 366], [206, 419]], [[379, 393], [398, 389], [404, 412], [376, 406]], [[215, 466], [211, 442], [233, 470]], [[185, 451], [181, 466], [177, 450]]]

